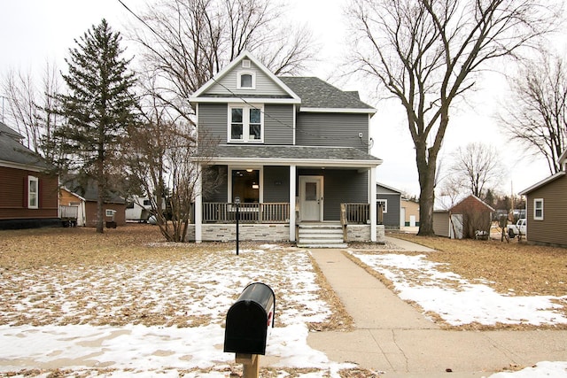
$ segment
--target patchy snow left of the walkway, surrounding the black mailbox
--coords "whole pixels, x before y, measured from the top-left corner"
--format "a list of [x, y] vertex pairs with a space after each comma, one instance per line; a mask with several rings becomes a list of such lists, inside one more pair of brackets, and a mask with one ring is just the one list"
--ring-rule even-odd
[[[267, 283], [278, 296], [278, 326], [270, 329], [266, 351], [278, 360], [274, 366], [319, 369], [314, 378], [338, 376], [338, 369], [353, 366], [333, 363], [307, 345], [307, 322], [325, 320], [330, 314], [329, 306], [318, 297], [320, 287], [309, 253], [282, 251], [276, 245], [260, 248], [240, 251], [240, 256], [219, 251], [134, 266], [63, 266], [60, 270], [50, 266], [18, 277], [0, 272], [4, 286], [0, 300], [13, 309], [0, 315], [4, 323], [12, 320], [0, 326], [0, 372], [60, 367], [68, 371], [58, 376], [229, 376], [235, 355], [222, 351], [222, 324], [229, 306], [251, 282]], [[30, 288], [29, 297], [22, 295], [22, 288]], [[89, 300], [82, 302], [79, 297]], [[96, 325], [128, 312], [133, 302], [144, 303], [147, 318], [166, 312], [169, 304], [176, 317], [185, 313], [205, 321], [187, 328]], [[21, 318], [18, 313], [27, 315]], [[77, 315], [89, 324], [58, 324]], [[32, 324], [34, 319], [40, 326], [21, 324]], [[50, 320], [55, 324], [47, 324]]]

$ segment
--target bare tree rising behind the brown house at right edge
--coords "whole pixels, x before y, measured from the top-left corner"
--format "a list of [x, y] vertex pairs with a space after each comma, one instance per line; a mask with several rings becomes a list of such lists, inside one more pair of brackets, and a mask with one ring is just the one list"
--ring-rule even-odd
[[567, 66], [563, 58], [542, 51], [527, 61], [511, 83], [511, 96], [502, 106], [501, 124], [526, 152], [546, 158], [549, 172], [567, 148]]

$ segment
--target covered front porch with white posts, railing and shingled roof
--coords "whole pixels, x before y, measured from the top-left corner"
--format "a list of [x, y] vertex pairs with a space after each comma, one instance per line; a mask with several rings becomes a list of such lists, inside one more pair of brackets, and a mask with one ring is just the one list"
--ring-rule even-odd
[[201, 163], [195, 241], [217, 237], [207, 230], [226, 231], [238, 213], [251, 240], [282, 240], [285, 229], [283, 240], [296, 242], [299, 225], [333, 222], [364, 226], [375, 242], [381, 162], [353, 148], [221, 145]]

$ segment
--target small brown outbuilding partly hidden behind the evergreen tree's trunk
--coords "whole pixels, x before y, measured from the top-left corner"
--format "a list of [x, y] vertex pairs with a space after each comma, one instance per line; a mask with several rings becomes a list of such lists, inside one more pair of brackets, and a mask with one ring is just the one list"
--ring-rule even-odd
[[[67, 186], [72, 187], [68, 189]], [[77, 226], [97, 227], [97, 197], [95, 185], [89, 182], [87, 188], [68, 184], [59, 190], [61, 205], [78, 206]], [[126, 225], [126, 201], [111, 194], [103, 206], [104, 221], [115, 221], [117, 226]]]

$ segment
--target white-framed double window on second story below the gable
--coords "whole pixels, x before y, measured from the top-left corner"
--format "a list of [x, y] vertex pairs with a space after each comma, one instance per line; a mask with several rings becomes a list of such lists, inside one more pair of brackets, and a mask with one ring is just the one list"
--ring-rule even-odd
[[229, 142], [262, 143], [264, 113], [262, 106], [229, 105]]

